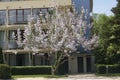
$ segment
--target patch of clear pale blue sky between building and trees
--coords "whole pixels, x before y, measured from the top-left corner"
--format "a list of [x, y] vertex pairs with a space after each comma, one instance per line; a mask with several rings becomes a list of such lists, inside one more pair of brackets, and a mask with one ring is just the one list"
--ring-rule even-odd
[[111, 9], [117, 4], [116, 0], [93, 0], [93, 13], [113, 15]]

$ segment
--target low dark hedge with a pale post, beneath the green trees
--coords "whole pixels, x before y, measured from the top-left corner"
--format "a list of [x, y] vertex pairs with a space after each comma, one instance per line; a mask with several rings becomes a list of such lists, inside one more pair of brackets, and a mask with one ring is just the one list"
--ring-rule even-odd
[[120, 64], [114, 65], [97, 65], [97, 73], [105, 74], [105, 73], [120, 73]]

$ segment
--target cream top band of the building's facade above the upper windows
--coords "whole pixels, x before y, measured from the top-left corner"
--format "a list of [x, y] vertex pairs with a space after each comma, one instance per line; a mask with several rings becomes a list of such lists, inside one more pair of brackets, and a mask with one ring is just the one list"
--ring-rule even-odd
[[[56, 0], [61, 6], [71, 5], [71, 0]], [[27, 1], [10, 1], [0, 2], [0, 9], [25, 9], [25, 8], [48, 8], [54, 7], [52, 0], [27, 0]]]

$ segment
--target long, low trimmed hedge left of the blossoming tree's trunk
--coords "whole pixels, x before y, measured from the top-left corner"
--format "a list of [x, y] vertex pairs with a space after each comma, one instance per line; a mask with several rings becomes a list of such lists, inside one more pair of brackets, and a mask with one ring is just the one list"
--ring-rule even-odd
[[12, 75], [51, 74], [51, 66], [13, 66]]

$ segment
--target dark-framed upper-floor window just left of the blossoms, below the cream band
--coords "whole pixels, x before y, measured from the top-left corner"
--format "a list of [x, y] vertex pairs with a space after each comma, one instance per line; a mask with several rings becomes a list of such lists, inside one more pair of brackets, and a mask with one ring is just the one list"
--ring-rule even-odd
[[9, 24], [26, 24], [30, 9], [9, 10]]

